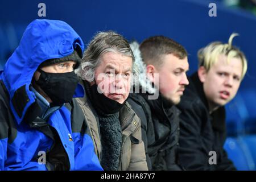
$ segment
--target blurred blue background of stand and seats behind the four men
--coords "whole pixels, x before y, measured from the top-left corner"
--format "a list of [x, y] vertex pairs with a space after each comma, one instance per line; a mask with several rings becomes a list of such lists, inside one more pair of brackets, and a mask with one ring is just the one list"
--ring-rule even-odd
[[[39, 17], [39, 3], [46, 17]], [[216, 3], [217, 16], [209, 16]], [[70, 24], [89, 43], [97, 31], [113, 30], [139, 43], [164, 35], [188, 51], [189, 72], [197, 70], [197, 51], [212, 41], [233, 44], [248, 60], [248, 71], [237, 96], [226, 105], [229, 158], [239, 170], [256, 170], [256, 0], [94, 0], [0, 1], [0, 69], [18, 46], [23, 31], [34, 19], [59, 19]]]

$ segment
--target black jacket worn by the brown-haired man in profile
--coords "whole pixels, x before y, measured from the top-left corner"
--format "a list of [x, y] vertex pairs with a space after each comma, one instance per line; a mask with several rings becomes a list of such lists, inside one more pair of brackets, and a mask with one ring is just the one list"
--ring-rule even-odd
[[161, 94], [157, 100], [130, 94], [128, 102], [141, 118], [148, 169], [181, 170], [176, 160], [180, 111]]

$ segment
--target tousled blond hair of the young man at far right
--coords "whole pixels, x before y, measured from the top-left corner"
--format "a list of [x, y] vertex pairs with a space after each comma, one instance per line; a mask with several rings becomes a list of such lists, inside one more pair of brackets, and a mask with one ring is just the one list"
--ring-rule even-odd
[[238, 34], [233, 33], [229, 37], [229, 41], [226, 44], [221, 42], [212, 42], [208, 46], [199, 49], [197, 57], [199, 59], [199, 66], [203, 66], [207, 72], [216, 64], [219, 55], [227, 56], [227, 63], [230, 63], [230, 59], [236, 57], [242, 61], [242, 78], [247, 71], [247, 60], [242, 51], [237, 47], [232, 46], [232, 40]]

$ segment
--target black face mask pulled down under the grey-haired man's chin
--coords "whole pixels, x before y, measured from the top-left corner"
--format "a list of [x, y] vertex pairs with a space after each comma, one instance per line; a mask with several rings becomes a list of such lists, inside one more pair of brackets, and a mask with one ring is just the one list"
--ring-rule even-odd
[[103, 93], [98, 93], [97, 87], [97, 84], [89, 86], [90, 96], [92, 97], [90, 100], [94, 107], [96, 107], [96, 110], [100, 110], [104, 114], [118, 113], [119, 110], [122, 109], [123, 105], [125, 105], [127, 98], [123, 104], [120, 104], [119, 102], [106, 97]]

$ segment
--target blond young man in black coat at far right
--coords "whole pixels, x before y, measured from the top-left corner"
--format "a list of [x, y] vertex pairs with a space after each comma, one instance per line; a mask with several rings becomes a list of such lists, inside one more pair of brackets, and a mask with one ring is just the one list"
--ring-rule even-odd
[[180, 114], [179, 162], [189, 170], [234, 170], [223, 148], [226, 139], [224, 105], [236, 96], [245, 76], [243, 53], [228, 44], [210, 43], [198, 52], [199, 69], [178, 108]]

